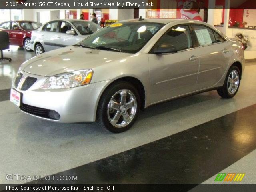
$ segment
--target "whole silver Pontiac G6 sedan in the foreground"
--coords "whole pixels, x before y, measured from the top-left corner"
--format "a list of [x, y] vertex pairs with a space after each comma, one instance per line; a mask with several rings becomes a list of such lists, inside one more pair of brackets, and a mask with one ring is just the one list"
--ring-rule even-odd
[[38, 118], [119, 133], [159, 102], [209, 90], [234, 97], [243, 70], [242, 44], [206, 23], [126, 20], [24, 62], [10, 100]]

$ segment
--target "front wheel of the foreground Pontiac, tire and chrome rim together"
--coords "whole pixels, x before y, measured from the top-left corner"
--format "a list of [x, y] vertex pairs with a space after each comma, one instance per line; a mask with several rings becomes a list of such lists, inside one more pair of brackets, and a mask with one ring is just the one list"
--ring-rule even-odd
[[113, 133], [128, 130], [140, 110], [140, 97], [128, 82], [118, 82], [107, 88], [98, 104], [97, 120], [102, 128]]

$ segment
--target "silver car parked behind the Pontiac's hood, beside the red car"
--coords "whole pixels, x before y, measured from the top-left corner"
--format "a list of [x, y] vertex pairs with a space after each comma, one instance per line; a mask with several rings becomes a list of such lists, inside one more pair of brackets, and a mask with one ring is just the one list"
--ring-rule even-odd
[[101, 27], [94, 22], [78, 19], [52, 20], [33, 31], [30, 48], [36, 55], [74, 45]]

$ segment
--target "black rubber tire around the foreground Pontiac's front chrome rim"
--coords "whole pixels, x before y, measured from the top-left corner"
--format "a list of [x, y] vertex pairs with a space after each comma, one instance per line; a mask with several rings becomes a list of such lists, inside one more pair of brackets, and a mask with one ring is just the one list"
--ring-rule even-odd
[[[120, 90], [129, 90], [130, 92], [132, 92], [132, 94], [134, 94], [136, 98], [137, 106], [136, 106], [136, 112], [134, 117], [132, 118], [132, 121], [126, 126], [118, 128], [112, 125], [108, 118], [108, 103], [110, 102], [112, 96], [114, 96], [114, 94], [116, 94], [116, 92]], [[101, 96], [100, 102], [98, 104], [98, 110], [97, 110], [97, 122], [101, 128], [106, 128], [112, 133], [121, 133], [132, 127], [136, 118], [138, 117], [139, 110], [140, 110], [140, 96], [139, 96], [138, 90], [136, 90], [136, 88], [128, 82], [125, 82], [125, 81], [116, 82], [110, 85]]]

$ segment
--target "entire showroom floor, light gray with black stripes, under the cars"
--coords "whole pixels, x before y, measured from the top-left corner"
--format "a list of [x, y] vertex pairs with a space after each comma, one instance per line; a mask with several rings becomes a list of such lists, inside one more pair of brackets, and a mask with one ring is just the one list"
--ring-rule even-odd
[[96, 123], [58, 124], [20, 112], [9, 101], [11, 81], [34, 52], [11, 46], [4, 56], [12, 62], [0, 62], [0, 183], [21, 174], [78, 176], [70, 183], [200, 184], [214, 183], [218, 173], [245, 173], [242, 183], [255, 183], [256, 62], [246, 62], [233, 99], [211, 91], [164, 102], [112, 134]]

